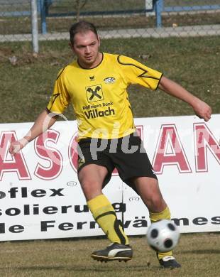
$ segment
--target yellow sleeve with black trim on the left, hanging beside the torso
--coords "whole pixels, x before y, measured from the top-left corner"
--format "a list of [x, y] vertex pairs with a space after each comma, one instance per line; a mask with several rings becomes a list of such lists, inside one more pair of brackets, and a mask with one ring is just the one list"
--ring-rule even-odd
[[57, 75], [55, 81], [52, 97], [48, 103], [48, 111], [55, 114], [62, 114], [70, 102], [70, 95], [67, 92], [65, 85], [65, 68], [62, 68]]

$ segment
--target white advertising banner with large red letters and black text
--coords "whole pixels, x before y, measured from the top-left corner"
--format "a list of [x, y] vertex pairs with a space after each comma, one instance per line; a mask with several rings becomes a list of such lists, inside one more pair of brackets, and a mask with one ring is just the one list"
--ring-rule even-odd
[[[181, 232], [220, 231], [220, 115], [135, 119], [160, 189]], [[33, 123], [0, 124], [0, 241], [103, 234], [77, 180], [75, 121], [57, 121], [11, 157]], [[145, 234], [148, 210], [116, 171], [104, 193], [126, 234]]]

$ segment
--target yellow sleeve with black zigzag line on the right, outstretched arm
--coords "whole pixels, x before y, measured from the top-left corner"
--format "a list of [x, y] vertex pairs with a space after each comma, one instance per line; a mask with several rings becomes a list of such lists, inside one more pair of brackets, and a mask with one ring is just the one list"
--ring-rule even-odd
[[119, 55], [118, 62], [128, 84], [138, 84], [153, 90], [158, 88], [163, 73], [123, 55]]

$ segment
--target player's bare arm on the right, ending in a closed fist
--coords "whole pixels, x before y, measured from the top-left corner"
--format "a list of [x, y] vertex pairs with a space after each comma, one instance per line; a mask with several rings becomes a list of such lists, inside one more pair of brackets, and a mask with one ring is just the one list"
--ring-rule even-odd
[[211, 119], [211, 107], [209, 107], [207, 103], [192, 95], [176, 82], [163, 76], [158, 87], [164, 92], [167, 92], [167, 94], [187, 102], [190, 106], [192, 106], [195, 114], [197, 114], [199, 118], [204, 119], [204, 121], [209, 121], [209, 119]]

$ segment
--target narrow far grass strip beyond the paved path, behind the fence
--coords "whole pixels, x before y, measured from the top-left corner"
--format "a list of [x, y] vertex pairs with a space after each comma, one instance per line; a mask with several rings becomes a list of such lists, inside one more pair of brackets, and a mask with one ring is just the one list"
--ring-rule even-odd
[[[61, 11], [60, 11], [61, 12]], [[194, 25], [211, 25], [219, 24], [220, 12], [214, 13], [174, 13], [172, 15], [163, 15], [163, 27], [172, 27], [173, 24], [177, 26], [194, 26]], [[132, 16], [86, 16], [81, 19], [91, 21], [101, 30], [114, 30], [126, 28], [155, 28], [155, 16], [145, 16], [145, 14], [138, 14]], [[31, 33], [31, 18], [23, 17], [0, 17], [0, 34], [26, 34]], [[48, 17], [47, 31], [48, 33], [62, 33], [66, 32], [72, 23], [76, 22], [74, 16], [62, 17]], [[40, 18], [38, 20], [38, 29], [41, 31]]]

